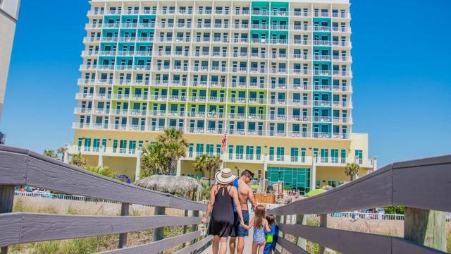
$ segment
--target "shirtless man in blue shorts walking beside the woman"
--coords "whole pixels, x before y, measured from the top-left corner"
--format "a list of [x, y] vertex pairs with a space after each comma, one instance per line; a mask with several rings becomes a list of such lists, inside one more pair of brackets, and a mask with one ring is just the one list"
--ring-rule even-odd
[[[247, 186], [248, 183], [254, 178], [254, 173], [249, 170], [242, 171], [240, 179], [235, 179], [233, 181], [233, 186], [238, 189], [238, 199], [240, 200], [240, 206], [242, 210], [242, 217], [246, 225], [249, 225], [249, 207], [247, 207], [247, 200], [249, 200], [252, 204], [252, 207], [257, 207], [257, 201], [254, 198], [254, 192], [252, 188]], [[238, 254], [242, 254], [242, 251], [245, 249], [245, 236], [249, 236], [249, 231], [240, 226], [240, 218], [238, 217], [236, 207], [233, 206], [233, 212], [235, 212], [235, 236], [238, 237], [238, 245], [236, 245], [236, 237], [233, 237], [234, 234], [230, 237], [229, 247], [230, 254], [235, 254], [235, 247], [237, 249]]]

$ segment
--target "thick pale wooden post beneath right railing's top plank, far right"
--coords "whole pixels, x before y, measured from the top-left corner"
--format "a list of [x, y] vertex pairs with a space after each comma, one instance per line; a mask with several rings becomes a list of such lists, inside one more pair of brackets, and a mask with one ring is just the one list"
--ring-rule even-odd
[[404, 239], [446, 252], [445, 212], [404, 209]]

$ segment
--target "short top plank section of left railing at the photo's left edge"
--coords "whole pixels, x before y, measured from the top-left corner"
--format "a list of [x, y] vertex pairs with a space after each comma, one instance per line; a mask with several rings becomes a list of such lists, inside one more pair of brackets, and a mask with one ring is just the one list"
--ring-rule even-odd
[[28, 155], [0, 150], [0, 185], [25, 185], [27, 167]]

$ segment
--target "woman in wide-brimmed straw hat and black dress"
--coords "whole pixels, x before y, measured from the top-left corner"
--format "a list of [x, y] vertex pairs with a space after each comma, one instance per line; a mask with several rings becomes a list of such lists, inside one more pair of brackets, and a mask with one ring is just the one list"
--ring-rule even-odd
[[[233, 223], [235, 218], [233, 216], [233, 205], [237, 207], [237, 213], [242, 222], [242, 211], [240, 202], [238, 200], [238, 191], [232, 185], [236, 178], [230, 169], [222, 169], [215, 174], [216, 184], [211, 187], [211, 197], [208, 207], [206, 207], [205, 217], [202, 218], [202, 223], [206, 222], [211, 212], [210, 225], [208, 233], [213, 235], [213, 253], [226, 254], [227, 238], [233, 234]], [[219, 243], [221, 242], [221, 250]]]

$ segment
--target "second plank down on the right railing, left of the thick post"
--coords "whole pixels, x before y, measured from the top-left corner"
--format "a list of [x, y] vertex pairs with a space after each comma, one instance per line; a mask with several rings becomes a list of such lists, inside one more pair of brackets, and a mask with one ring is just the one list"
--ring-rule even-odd
[[279, 229], [286, 234], [306, 238], [309, 241], [337, 250], [340, 253], [391, 253], [392, 240], [389, 236], [297, 224], [280, 224]]

